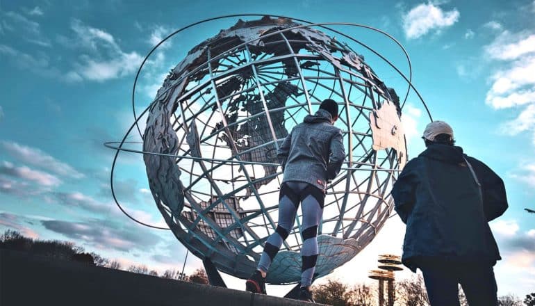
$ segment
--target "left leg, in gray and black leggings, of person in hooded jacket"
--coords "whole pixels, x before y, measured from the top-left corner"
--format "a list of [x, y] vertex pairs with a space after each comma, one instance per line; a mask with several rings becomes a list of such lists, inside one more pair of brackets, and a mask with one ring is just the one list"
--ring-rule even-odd
[[[299, 184], [299, 183], [297, 183]], [[258, 261], [257, 269], [268, 272], [270, 265], [279, 252], [283, 241], [286, 240], [295, 222], [295, 213], [299, 207], [299, 190], [295, 190], [296, 182], [285, 182], [279, 193], [279, 224], [277, 230], [265, 241], [264, 251]]]

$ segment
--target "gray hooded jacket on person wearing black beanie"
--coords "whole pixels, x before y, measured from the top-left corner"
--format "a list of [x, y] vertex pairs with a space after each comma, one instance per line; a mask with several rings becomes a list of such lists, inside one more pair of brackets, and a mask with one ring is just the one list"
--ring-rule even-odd
[[282, 182], [306, 182], [324, 191], [327, 181], [338, 175], [345, 152], [342, 131], [331, 122], [331, 114], [320, 108], [286, 136], [277, 152]]

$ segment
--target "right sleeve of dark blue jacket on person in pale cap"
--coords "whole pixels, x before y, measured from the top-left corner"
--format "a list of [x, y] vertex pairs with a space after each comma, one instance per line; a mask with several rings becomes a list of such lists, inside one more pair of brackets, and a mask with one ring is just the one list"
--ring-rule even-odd
[[482, 185], [483, 209], [487, 221], [502, 216], [509, 207], [503, 180], [482, 161], [468, 157], [474, 168], [479, 184]]

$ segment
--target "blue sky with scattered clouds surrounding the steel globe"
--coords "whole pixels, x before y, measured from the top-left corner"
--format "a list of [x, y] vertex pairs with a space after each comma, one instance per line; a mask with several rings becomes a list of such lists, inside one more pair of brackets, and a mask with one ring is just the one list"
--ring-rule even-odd
[[[457, 144], [506, 184], [510, 208], [491, 224], [504, 257], [496, 267], [499, 293], [523, 296], [535, 288], [535, 216], [523, 210], [535, 209], [534, 1], [1, 1], [0, 230], [74, 241], [124, 266], [181, 267], [186, 251], [170, 232], [136, 225], [115, 207], [113, 151], [102, 144], [120, 140], [133, 121], [135, 72], [158, 40], [192, 22], [236, 13], [367, 24], [400, 40], [434, 119], [449, 122]], [[203, 24], [159, 48], [140, 75], [136, 111], [193, 46], [235, 22]], [[392, 42], [369, 31], [336, 29], [406, 71]], [[378, 73], [404, 92], [395, 74]], [[418, 135], [427, 122], [411, 95], [404, 109], [409, 157], [423, 149]], [[141, 156], [120, 154], [115, 184], [132, 214], [165, 224], [147, 191]], [[349, 262], [356, 272], [334, 276], [365, 280], [378, 252], [400, 252], [403, 230], [391, 219]], [[186, 272], [200, 265], [189, 257]]]

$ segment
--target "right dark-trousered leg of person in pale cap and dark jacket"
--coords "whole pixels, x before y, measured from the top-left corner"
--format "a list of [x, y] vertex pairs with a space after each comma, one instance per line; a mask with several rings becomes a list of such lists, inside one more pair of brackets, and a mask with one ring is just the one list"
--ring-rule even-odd
[[496, 279], [490, 264], [466, 265], [461, 274], [461, 287], [470, 306], [498, 305]]

